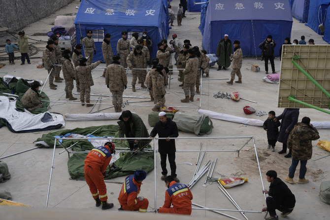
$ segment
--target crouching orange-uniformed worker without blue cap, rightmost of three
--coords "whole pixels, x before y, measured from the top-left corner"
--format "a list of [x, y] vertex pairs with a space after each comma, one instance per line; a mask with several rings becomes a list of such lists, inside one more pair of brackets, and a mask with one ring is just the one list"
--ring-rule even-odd
[[184, 184], [176, 183], [172, 176], [165, 178], [165, 185], [168, 188], [165, 192], [165, 202], [158, 212], [191, 215], [193, 194], [190, 189]]

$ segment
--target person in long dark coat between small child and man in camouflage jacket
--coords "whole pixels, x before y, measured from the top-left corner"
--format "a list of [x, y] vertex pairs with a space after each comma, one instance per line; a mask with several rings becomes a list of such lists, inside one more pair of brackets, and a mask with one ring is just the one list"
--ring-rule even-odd
[[[298, 108], [285, 108], [283, 113], [276, 118], [274, 118], [274, 122], [277, 120], [281, 120], [280, 133], [278, 135], [277, 141], [283, 143], [282, 151], [278, 152], [279, 154], [287, 153], [287, 142], [290, 131], [294, 128], [294, 126], [298, 122], [299, 117], [299, 109]], [[289, 149], [289, 154], [285, 157], [291, 157], [291, 150]]]

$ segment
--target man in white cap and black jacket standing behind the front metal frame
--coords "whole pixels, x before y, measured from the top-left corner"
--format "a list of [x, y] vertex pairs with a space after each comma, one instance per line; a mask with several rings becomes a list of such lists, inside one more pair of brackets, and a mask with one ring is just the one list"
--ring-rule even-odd
[[168, 155], [169, 166], [171, 168], [171, 176], [174, 181], [179, 183], [179, 179], [176, 178], [176, 164], [175, 164], [175, 139], [171, 137], [179, 136], [178, 127], [176, 123], [166, 117], [165, 112], [159, 113], [159, 122], [156, 123], [150, 133], [150, 137], [155, 137], [157, 134], [159, 137], [166, 139], [158, 140], [158, 151], [161, 155], [161, 166], [162, 166], [162, 180], [164, 181], [167, 176], [166, 169], [166, 157]]

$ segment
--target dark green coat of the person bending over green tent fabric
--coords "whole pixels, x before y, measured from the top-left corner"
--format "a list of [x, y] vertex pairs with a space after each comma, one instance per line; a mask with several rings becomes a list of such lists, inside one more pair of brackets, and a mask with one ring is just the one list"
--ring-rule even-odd
[[[120, 121], [117, 122], [119, 125], [118, 137], [124, 137], [124, 135], [128, 136], [127, 135], [128, 129], [121, 116], [120, 116], [119, 120]], [[142, 119], [134, 113], [132, 113], [132, 117], [130, 117], [130, 126], [131, 126], [131, 132], [133, 133], [134, 137], [136, 137], [137, 139], [139, 137], [149, 137], [148, 130], [147, 130], [146, 126], [144, 125]], [[144, 140], [138, 140], [137, 145], [138, 145], [139, 149], [141, 149], [149, 143], [150, 143], [150, 140], [144, 139]]]

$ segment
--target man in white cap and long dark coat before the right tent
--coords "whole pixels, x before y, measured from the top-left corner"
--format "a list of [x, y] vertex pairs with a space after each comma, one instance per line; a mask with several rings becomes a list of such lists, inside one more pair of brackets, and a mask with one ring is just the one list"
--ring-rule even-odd
[[218, 57], [218, 68], [220, 70], [221, 67], [226, 69], [231, 65], [231, 58], [230, 55], [232, 54], [232, 44], [231, 40], [229, 39], [228, 34], [225, 34], [224, 38], [221, 39], [218, 43], [216, 56]]

